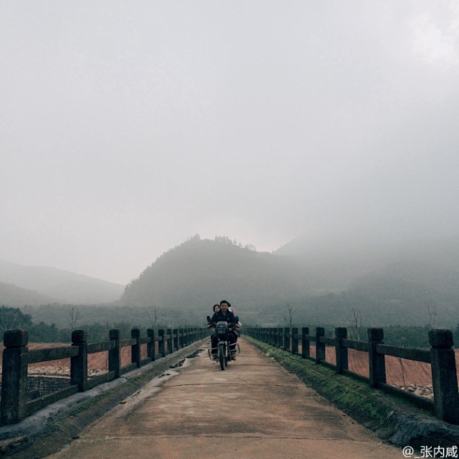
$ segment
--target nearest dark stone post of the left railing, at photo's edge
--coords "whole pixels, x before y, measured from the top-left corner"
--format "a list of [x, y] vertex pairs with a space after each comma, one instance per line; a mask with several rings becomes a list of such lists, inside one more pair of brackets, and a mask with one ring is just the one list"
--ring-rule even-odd
[[29, 332], [7, 330], [3, 334], [1, 373], [1, 424], [14, 424], [26, 416]]

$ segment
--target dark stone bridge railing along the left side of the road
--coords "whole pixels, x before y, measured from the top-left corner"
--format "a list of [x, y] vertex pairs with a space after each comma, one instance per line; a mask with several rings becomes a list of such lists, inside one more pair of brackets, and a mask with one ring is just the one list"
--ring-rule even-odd
[[[112, 381], [130, 370], [141, 368], [208, 335], [209, 330], [199, 328], [159, 329], [158, 333], [154, 329], [148, 329], [146, 337], [142, 338], [139, 329], [132, 329], [131, 338], [121, 340], [120, 331], [112, 329], [109, 341], [87, 343], [86, 331], [75, 330], [72, 333], [71, 345], [29, 349], [27, 330], [7, 330], [3, 335], [5, 348], [1, 370], [0, 424], [4, 426], [22, 421], [50, 403]], [[123, 347], [130, 347], [131, 356], [130, 363], [125, 366], [122, 366], [121, 360]], [[96, 377], [89, 377], [88, 355], [96, 352], [107, 352], [108, 371]], [[144, 359], [142, 354], [146, 354]], [[67, 386], [33, 400], [28, 384], [29, 365], [58, 359], [70, 359], [70, 379]]]

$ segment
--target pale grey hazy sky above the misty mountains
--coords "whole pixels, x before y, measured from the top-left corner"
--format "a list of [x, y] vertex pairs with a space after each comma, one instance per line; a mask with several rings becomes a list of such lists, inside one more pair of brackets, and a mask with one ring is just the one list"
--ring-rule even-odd
[[1, 0], [0, 62], [0, 259], [458, 234], [459, 0]]

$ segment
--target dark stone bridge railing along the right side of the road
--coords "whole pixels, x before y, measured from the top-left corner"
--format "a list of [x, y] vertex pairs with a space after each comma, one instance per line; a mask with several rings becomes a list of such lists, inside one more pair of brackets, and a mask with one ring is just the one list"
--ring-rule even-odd
[[[302, 327], [301, 332], [294, 327], [246, 327], [245, 333], [264, 343], [282, 347], [292, 354], [299, 354], [299, 343], [301, 343], [303, 359], [331, 366], [338, 374], [364, 379], [374, 388], [395, 393], [409, 399], [418, 407], [432, 411], [442, 421], [459, 424], [458, 377], [453, 350], [453, 334], [450, 330], [430, 330], [430, 349], [386, 345], [384, 344], [384, 331], [379, 328], [368, 329], [368, 342], [347, 339], [345, 327], [336, 328], [333, 337], [326, 337], [323, 327], [317, 327], [315, 334], [310, 334], [309, 327]], [[311, 342], [315, 343], [315, 357], [310, 355]], [[334, 347], [335, 365], [326, 361], [326, 347]], [[348, 349], [356, 349], [368, 354], [369, 377], [349, 370]], [[430, 363], [433, 401], [386, 384], [386, 355]]]

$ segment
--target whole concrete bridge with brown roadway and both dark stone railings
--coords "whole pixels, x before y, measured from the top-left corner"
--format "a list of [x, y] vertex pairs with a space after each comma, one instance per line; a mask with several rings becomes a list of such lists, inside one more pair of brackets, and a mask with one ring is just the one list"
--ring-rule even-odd
[[[446, 403], [437, 404], [441, 409], [436, 419], [432, 402], [423, 412], [397, 402], [391, 396], [393, 390], [373, 389], [387, 386], [384, 354], [429, 361], [432, 377], [438, 379], [437, 393], [451, 389], [456, 367], [451, 370], [451, 362], [443, 356], [453, 351], [450, 339], [440, 340], [445, 335], [442, 331], [431, 333], [429, 351], [373, 344], [375, 333], [379, 341], [382, 338], [380, 329], [369, 330], [369, 343], [347, 340], [345, 329], [337, 329], [336, 338], [325, 338], [320, 328], [315, 335], [306, 327], [301, 333], [297, 329], [248, 329], [255, 339], [240, 338], [242, 353], [225, 371], [207, 355], [208, 331], [147, 332], [141, 338], [133, 329], [131, 338], [121, 340], [118, 331], [112, 330], [110, 341], [88, 344], [84, 331], [75, 331], [72, 346], [52, 349], [28, 349], [27, 331], [6, 332], [0, 455], [27, 459], [134, 454], [154, 458], [401, 458], [402, 446], [415, 444], [419, 457], [435, 457], [422, 456], [421, 449], [436, 445], [444, 448], [439, 450], [444, 456], [438, 457], [459, 456], [459, 427], [438, 419], [438, 414], [451, 411]], [[315, 342], [315, 358], [309, 355], [311, 341]], [[319, 364], [324, 363], [325, 346], [336, 354], [337, 364], [328, 370]], [[347, 369], [347, 349], [353, 347], [369, 352], [369, 381], [377, 384], [368, 384], [368, 378], [359, 382]], [[123, 348], [129, 354], [127, 361], [122, 358]], [[91, 378], [88, 355], [98, 352], [107, 353], [107, 372]], [[285, 360], [280, 366], [271, 357], [276, 353], [294, 361], [303, 376], [328, 371], [324, 375], [328, 379], [322, 382], [333, 380], [340, 392], [357, 391], [362, 401], [370, 399], [365, 400], [370, 408], [371, 400], [378, 400], [379, 405], [384, 400], [387, 419], [377, 427], [390, 428], [391, 442], [398, 447], [382, 442], [347, 412], [333, 407], [313, 390], [312, 383], [305, 384], [307, 378], [302, 376], [302, 381], [286, 370], [291, 367]], [[29, 386], [33, 379], [28, 375], [29, 364], [61, 357], [70, 360], [66, 385], [33, 398], [31, 393], [36, 390], [31, 392]], [[445, 379], [450, 373], [454, 377]], [[322, 389], [317, 384], [314, 387]], [[333, 399], [337, 394], [326, 395]], [[449, 396], [454, 402], [457, 389]]]

